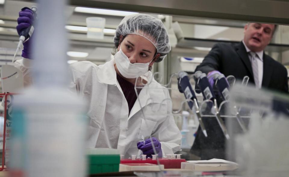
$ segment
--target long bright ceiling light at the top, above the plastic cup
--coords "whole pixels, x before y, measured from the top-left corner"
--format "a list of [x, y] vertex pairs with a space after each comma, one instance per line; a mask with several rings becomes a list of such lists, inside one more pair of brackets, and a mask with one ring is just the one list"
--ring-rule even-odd
[[138, 14], [138, 12], [115, 11], [115, 10], [108, 10], [108, 9], [83, 8], [83, 7], [76, 7], [74, 11], [82, 12], [82, 13], [89, 13], [89, 14], [113, 15], [113, 16], [121, 16], [121, 17], [125, 17], [127, 15], [132, 15], [132, 14]]

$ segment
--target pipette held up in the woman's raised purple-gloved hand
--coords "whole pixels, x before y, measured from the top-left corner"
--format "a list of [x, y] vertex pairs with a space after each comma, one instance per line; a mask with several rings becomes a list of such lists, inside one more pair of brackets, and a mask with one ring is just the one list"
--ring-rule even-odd
[[[30, 9], [30, 8], [25, 7], [25, 8], [22, 8], [21, 10], [24, 10], [24, 9]], [[35, 13], [37, 11], [37, 7], [36, 6], [32, 6], [30, 10], [32, 10], [34, 12], [34, 15], [35, 15]], [[33, 25], [30, 25], [28, 28], [23, 29], [20, 32], [20, 34], [19, 34], [20, 35], [19, 43], [17, 45], [17, 49], [16, 49], [16, 52], [14, 54], [12, 63], [14, 63], [15, 57], [16, 57], [17, 53], [19, 52], [21, 45], [23, 44], [24, 41], [26, 41], [27, 39], [29, 39], [31, 37], [33, 31], [34, 31], [34, 27], [33, 27]]]

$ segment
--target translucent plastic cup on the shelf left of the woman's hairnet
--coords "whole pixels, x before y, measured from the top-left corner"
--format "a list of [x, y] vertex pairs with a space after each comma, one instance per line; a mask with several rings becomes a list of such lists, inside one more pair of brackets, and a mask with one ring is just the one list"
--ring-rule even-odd
[[103, 29], [105, 26], [105, 18], [102, 17], [87, 17], [87, 38], [103, 39]]

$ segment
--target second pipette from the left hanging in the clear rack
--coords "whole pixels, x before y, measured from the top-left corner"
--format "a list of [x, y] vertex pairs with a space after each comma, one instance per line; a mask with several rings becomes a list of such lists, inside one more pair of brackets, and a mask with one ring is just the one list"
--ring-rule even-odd
[[229, 139], [229, 134], [227, 132], [227, 128], [224, 124], [224, 121], [222, 120], [220, 114], [219, 114], [219, 109], [217, 107], [217, 100], [215, 93], [213, 92], [213, 88], [210, 85], [210, 82], [207, 78], [207, 75], [205, 73], [202, 73], [201, 71], [197, 71], [194, 75], [194, 79], [196, 81], [196, 84], [199, 86], [203, 96], [205, 99], [210, 99], [214, 103], [214, 109], [216, 110], [216, 119], [219, 123], [219, 126], [221, 127], [225, 137]]

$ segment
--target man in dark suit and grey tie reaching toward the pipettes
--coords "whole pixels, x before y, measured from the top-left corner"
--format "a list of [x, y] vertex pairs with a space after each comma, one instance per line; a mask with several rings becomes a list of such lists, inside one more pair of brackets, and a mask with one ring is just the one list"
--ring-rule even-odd
[[[264, 53], [270, 43], [276, 25], [248, 23], [244, 27], [244, 39], [238, 44], [215, 44], [205, 56], [196, 71], [207, 74], [213, 84], [213, 75], [222, 73], [242, 80], [249, 76], [257, 88], [288, 93], [287, 69]], [[208, 137], [204, 137], [200, 127], [191, 148], [191, 153], [202, 160], [225, 159], [225, 137], [215, 118], [203, 119]], [[224, 120], [225, 121], [225, 120]], [[237, 130], [236, 130], [237, 131]]]

